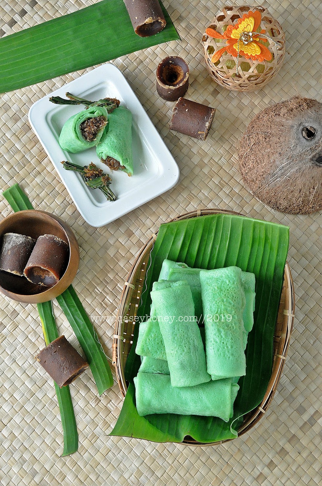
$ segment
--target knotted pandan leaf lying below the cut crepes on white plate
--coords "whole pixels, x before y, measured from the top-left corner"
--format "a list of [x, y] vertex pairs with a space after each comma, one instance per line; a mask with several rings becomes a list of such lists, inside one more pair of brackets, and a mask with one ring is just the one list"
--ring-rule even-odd
[[93, 162], [84, 167], [69, 162], [68, 160], [63, 160], [62, 164], [66, 171], [73, 171], [81, 174], [85, 184], [91, 189], [99, 189], [103, 192], [108, 201], [115, 201], [116, 196], [109, 187], [112, 182], [111, 177], [108, 174], [104, 174], [102, 169], [99, 169]]

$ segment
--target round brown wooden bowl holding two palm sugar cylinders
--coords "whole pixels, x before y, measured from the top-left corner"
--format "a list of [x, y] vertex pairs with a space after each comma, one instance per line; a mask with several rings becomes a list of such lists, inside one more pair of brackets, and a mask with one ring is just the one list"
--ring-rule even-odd
[[58, 216], [46, 211], [27, 209], [7, 216], [0, 222], [0, 240], [4, 233], [20, 233], [37, 239], [44, 234], [55, 235], [69, 247], [69, 259], [64, 275], [52, 287], [39, 290], [25, 277], [0, 271], [0, 292], [18, 302], [37, 304], [62, 294], [72, 283], [80, 262], [80, 250], [74, 233]]

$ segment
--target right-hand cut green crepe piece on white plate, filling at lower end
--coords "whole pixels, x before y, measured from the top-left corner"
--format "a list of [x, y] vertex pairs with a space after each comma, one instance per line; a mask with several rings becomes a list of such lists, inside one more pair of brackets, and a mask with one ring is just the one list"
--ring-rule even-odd
[[96, 153], [110, 169], [133, 175], [132, 113], [124, 106], [109, 114], [109, 129], [104, 130]]

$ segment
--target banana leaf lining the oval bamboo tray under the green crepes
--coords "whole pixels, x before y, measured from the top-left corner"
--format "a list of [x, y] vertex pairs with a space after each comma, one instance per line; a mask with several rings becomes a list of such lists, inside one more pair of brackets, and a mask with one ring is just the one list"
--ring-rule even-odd
[[151, 252], [146, 288], [138, 315], [149, 315], [152, 284], [162, 261], [182, 261], [195, 268], [214, 269], [236, 265], [256, 278], [254, 327], [246, 348], [246, 375], [239, 380], [234, 416], [225, 423], [215, 417], [175, 414], [139, 417], [135, 408], [133, 377], [140, 366], [135, 354], [138, 326], [126, 362], [129, 388], [120, 416], [110, 435], [143, 438], [156, 442], [181, 442], [193, 437], [202, 443], [237, 436], [243, 415], [263, 399], [273, 367], [273, 339], [289, 247], [289, 228], [242, 216], [214, 214], [161, 225]]

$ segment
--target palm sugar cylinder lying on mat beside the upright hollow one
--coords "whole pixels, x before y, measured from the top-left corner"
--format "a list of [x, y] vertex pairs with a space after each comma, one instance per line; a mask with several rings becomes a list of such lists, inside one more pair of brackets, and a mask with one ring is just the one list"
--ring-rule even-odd
[[172, 111], [170, 130], [189, 135], [194, 139], [206, 140], [215, 108], [179, 98]]

